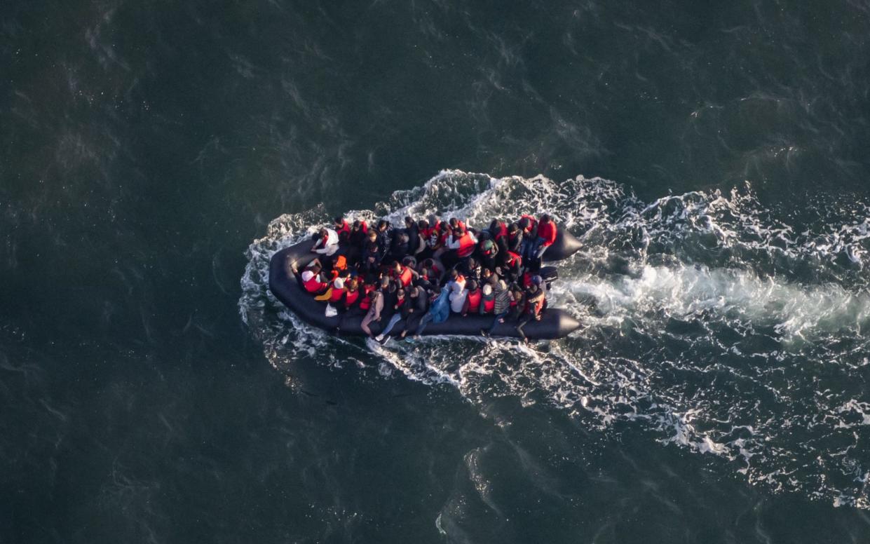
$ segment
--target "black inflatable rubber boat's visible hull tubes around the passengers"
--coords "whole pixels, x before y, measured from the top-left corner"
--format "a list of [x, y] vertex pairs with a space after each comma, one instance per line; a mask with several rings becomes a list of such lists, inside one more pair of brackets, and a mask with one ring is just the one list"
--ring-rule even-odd
[[[556, 242], [544, 254], [545, 261], [565, 259], [577, 252], [580, 242], [570, 232], [559, 231]], [[341, 325], [341, 333], [364, 336], [365, 332], [360, 327], [362, 316], [326, 317], [325, 303], [318, 302], [300, 285], [298, 277], [293, 270], [301, 271], [305, 265], [311, 262], [316, 255], [311, 253], [311, 240], [305, 239], [296, 245], [291, 245], [272, 255], [269, 264], [269, 290], [275, 297], [290, 308], [293, 312], [313, 326], [318, 326], [327, 331], [334, 331]], [[372, 323], [371, 331], [377, 334], [382, 326], [386, 326], [386, 319], [380, 323]], [[480, 336], [480, 329], [489, 328], [492, 325], [492, 316], [468, 315], [465, 317], [451, 315], [443, 323], [430, 323], [425, 327], [425, 336], [436, 334], [458, 334], [465, 336]], [[399, 321], [393, 331], [401, 331], [405, 322]], [[531, 321], [523, 329], [529, 339], [558, 339], [567, 336], [580, 326], [577, 319], [571, 317], [568, 312], [559, 308], [547, 308], [540, 321]], [[394, 333], [391, 332], [391, 335]], [[508, 336], [519, 338], [519, 333], [511, 323], [496, 326], [493, 336]]]

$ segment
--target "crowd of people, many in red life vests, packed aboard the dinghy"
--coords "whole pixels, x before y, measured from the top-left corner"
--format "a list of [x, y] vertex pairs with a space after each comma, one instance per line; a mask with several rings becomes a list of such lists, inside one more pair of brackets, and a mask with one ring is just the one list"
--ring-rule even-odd
[[[480, 334], [511, 323], [528, 342], [523, 327], [540, 320], [546, 307], [549, 278], [540, 275], [541, 258], [556, 235], [546, 214], [510, 224], [493, 219], [479, 231], [458, 218], [406, 217], [394, 226], [338, 217], [314, 235], [311, 252], [318, 257], [294, 272], [305, 291], [327, 303], [327, 315], [341, 315], [341, 324], [362, 316], [363, 331], [380, 342], [400, 322], [405, 338], [451, 314], [492, 316]], [[377, 336], [374, 322], [385, 324]]]

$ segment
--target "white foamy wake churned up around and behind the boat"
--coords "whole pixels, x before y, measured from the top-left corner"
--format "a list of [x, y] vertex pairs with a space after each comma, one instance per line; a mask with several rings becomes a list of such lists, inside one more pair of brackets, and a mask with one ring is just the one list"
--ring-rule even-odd
[[478, 406], [544, 403], [601, 433], [710, 454], [776, 492], [870, 508], [870, 213], [854, 201], [811, 204], [799, 225], [748, 185], [646, 203], [601, 178], [443, 171], [350, 215], [487, 225], [550, 212], [584, 243], [559, 263], [552, 292], [584, 324], [578, 332], [538, 351], [470, 338], [380, 346], [305, 326], [268, 292], [269, 259], [326, 222], [323, 209], [276, 218], [251, 243], [239, 312], [284, 373], [311, 358], [455, 387]]

